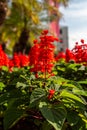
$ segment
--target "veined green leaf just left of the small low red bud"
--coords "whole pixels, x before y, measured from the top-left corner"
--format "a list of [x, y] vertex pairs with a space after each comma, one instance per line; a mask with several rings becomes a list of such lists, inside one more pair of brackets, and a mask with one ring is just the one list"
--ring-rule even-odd
[[38, 101], [43, 99], [46, 95], [46, 92], [42, 88], [35, 89], [30, 97], [30, 105], [36, 105]]

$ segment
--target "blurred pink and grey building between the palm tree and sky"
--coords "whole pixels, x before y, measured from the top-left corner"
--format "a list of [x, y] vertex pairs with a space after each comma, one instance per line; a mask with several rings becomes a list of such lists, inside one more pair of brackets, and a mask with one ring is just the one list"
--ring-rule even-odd
[[[59, 8], [59, 4], [54, 0], [49, 0], [49, 4], [51, 6], [55, 6]], [[50, 12], [49, 15], [54, 15], [57, 17], [55, 12]], [[55, 43], [56, 51], [63, 51], [65, 52], [66, 48], [68, 48], [68, 27], [59, 25], [59, 18], [56, 18], [53, 21], [49, 21], [49, 30], [50, 32], [60, 39], [60, 42]]]

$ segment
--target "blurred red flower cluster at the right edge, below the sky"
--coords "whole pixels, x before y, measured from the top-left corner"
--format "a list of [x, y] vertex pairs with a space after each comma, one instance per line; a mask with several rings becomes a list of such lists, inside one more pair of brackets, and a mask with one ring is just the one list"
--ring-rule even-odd
[[65, 59], [66, 62], [73, 60], [76, 63], [83, 63], [87, 65], [87, 44], [85, 44], [84, 40], [81, 39], [80, 45], [78, 44], [78, 42], [76, 42], [76, 45], [72, 50], [67, 48], [65, 53], [59, 53], [56, 56], [56, 61], [61, 58]]

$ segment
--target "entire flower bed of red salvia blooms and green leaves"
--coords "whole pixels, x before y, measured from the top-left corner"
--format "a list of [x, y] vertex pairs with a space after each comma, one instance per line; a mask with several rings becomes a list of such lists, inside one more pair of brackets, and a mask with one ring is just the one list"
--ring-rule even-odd
[[87, 129], [87, 44], [55, 56], [54, 41], [44, 30], [12, 59], [0, 47], [1, 129]]

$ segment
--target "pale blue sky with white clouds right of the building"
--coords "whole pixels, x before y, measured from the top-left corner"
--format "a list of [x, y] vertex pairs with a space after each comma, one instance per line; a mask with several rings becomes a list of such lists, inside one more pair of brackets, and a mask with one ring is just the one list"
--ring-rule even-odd
[[70, 0], [66, 8], [60, 6], [59, 10], [63, 14], [60, 26], [68, 26], [69, 48], [81, 39], [87, 43], [87, 0]]

